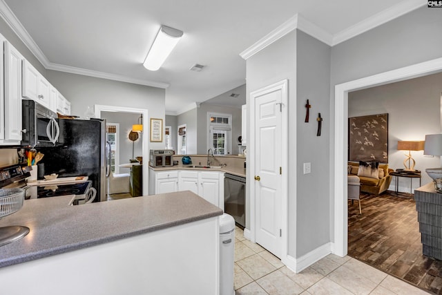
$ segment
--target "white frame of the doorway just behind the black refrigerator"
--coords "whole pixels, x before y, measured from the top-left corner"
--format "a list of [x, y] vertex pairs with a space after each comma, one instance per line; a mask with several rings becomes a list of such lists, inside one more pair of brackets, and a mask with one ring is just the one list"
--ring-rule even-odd
[[[146, 108], [128, 108], [126, 106], [106, 106], [102, 104], [95, 104], [94, 106], [94, 113], [95, 117], [101, 118], [102, 112], [124, 112], [124, 113], [135, 113], [139, 115], [140, 113], [143, 115], [144, 118], [148, 118], [148, 110]], [[144, 122], [147, 122], [147, 120], [144, 120], [142, 122], [143, 124], [143, 133], [144, 136], [142, 136], [142, 155], [143, 159], [149, 158], [149, 124], [144, 124]], [[144, 160], [147, 162], [146, 160]], [[148, 185], [149, 185], [149, 165], [143, 165], [143, 196], [148, 195]]]

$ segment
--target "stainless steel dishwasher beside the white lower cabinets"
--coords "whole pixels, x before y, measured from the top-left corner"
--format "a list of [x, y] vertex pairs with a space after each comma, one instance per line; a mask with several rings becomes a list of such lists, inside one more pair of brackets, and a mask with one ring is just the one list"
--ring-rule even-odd
[[246, 226], [246, 178], [224, 174], [224, 212], [230, 214], [235, 222], [244, 228]]

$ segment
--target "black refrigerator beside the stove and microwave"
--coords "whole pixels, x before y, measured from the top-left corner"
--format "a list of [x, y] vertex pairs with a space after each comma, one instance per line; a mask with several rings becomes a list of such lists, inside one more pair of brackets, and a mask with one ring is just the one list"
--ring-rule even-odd
[[58, 124], [57, 144], [37, 147], [44, 153], [38, 163], [40, 178], [50, 173], [59, 178], [88, 176], [99, 196], [94, 202], [106, 200], [106, 121], [58, 119]]

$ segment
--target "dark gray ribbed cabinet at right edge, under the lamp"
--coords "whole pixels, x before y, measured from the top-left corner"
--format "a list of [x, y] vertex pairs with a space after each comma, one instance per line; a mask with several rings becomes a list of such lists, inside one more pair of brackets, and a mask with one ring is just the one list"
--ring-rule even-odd
[[442, 260], [442, 193], [430, 182], [414, 190], [423, 255]]

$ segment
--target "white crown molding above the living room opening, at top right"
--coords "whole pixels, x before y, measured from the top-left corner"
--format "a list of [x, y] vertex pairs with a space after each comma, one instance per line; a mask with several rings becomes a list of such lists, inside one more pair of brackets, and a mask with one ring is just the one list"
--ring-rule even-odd
[[422, 6], [426, 6], [426, 5], [427, 5], [427, 1], [425, 1], [425, 0], [400, 1], [395, 6], [392, 6], [391, 8], [383, 10], [383, 11], [379, 12], [378, 14], [373, 15], [372, 17], [369, 17], [359, 23], [356, 23], [354, 26], [351, 26], [349, 28], [346, 28], [345, 30], [338, 32], [337, 34], [335, 34], [333, 36], [333, 41], [332, 41], [331, 45], [335, 46], [336, 44], [340, 44], [343, 41], [347, 41], [349, 39], [352, 39], [353, 37], [356, 37], [357, 35], [361, 35], [363, 32], [367, 32], [368, 30], [372, 30], [373, 28], [376, 28], [377, 26], [381, 26], [383, 23], [387, 23], [389, 21], [392, 21], [393, 19], [401, 17], [402, 15], [405, 15], [408, 12], [412, 12], [413, 10], [416, 10], [416, 9], [421, 8]]

